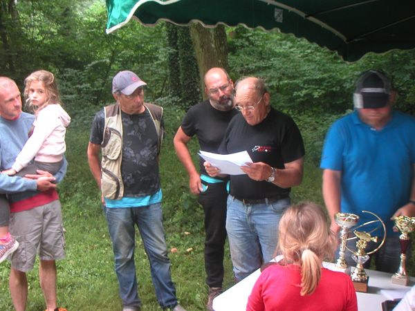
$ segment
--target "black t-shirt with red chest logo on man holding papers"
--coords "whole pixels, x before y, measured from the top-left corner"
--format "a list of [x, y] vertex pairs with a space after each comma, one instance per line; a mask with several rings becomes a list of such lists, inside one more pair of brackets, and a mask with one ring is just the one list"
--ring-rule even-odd
[[[297, 124], [289, 115], [275, 109], [254, 126], [249, 125], [242, 114], [232, 119], [219, 151], [228, 154], [245, 150], [253, 162], [264, 162], [276, 169], [284, 169], [284, 163], [298, 160], [305, 154]], [[230, 176], [230, 194], [237, 198], [273, 198], [289, 191], [291, 188], [252, 180], [246, 174]]]

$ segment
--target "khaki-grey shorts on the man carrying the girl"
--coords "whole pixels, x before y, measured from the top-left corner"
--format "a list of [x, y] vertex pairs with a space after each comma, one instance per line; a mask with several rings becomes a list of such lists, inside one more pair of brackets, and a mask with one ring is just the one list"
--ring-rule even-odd
[[59, 200], [10, 214], [9, 232], [19, 242], [19, 248], [10, 256], [12, 267], [29, 272], [36, 254], [41, 261], [65, 258], [65, 237]]

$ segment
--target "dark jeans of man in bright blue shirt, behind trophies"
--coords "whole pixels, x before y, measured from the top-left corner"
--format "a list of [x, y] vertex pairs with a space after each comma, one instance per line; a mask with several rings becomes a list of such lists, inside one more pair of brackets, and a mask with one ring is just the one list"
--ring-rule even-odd
[[[383, 236], [378, 237], [378, 242], [375, 243], [373, 241], [367, 243], [367, 247], [365, 248], [365, 252], [369, 253], [372, 250], [376, 249], [382, 242]], [[351, 249], [352, 252], [356, 252], [358, 248], [356, 247], [356, 241], [357, 240], [351, 240], [348, 241], [347, 247]], [[351, 258], [351, 252], [346, 249], [344, 258], [347, 262], [347, 265], [350, 267], [356, 267], [356, 261], [353, 261], [353, 258]], [[406, 263], [409, 263], [409, 258], [411, 257], [411, 245], [409, 244], [407, 248], [407, 259]], [[337, 259], [339, 256], [339, 252], [337, 251], [335, 254], [335, 258]], [[371, 260], [374, 258], [376, 270], [381, 272], [387, 272], [387, 273], [395, 273], [398, 271], [399, 263], [400, 263], [400, 243], [399, 243], [399, 236], [387, 236], [385, 239], [385, 244], [380, 247], [378, 252], [375, 252], [374, 254], [369, 255], [369, 260], [363, 265], [365, 269], [370, 268]]]

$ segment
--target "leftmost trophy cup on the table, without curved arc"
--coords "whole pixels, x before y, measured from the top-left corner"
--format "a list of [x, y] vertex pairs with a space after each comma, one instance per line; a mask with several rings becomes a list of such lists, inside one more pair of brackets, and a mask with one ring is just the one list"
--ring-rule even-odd
[[336, 213], [334, 214], [334, 221], [342, 228], [340, 231], [339, 258], [335, 261], [335, 270], [350, 274], [350, 267], [347, 265], [344, 255], [350, 228], [358, 224], [359, 216], [349, 213]]

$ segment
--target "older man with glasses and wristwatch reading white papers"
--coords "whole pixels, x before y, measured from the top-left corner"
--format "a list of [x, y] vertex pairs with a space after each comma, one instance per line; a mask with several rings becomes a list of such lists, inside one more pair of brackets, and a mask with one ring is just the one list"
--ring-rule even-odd
[[[291, 187], [302, 182], [304, 143], [293, 119], [270, 106], [270, 94], [256, 77], [235, 85], [241, 113], [226, 129], [220, 153], [248, 151], [253, 163], [230, 176], [226, 230], [234, 278], [241, 281], [274, 258], [279, 219], [291, 205]], [[220, 171], [205, 162], [212, 178]]]

